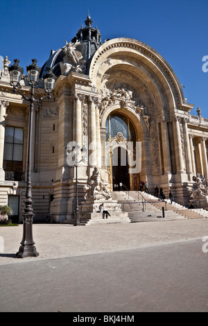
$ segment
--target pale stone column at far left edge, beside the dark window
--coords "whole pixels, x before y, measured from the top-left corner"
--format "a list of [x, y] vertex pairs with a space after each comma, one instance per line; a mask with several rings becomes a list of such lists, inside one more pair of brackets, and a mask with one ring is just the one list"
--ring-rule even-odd
[[0, 180], [5, 180], [5, 171], [3, 170], [3, 148], [4, 148], [4, 137], [5, 137], [5, 117], [6, 108], [9, 102], [0, 100]]

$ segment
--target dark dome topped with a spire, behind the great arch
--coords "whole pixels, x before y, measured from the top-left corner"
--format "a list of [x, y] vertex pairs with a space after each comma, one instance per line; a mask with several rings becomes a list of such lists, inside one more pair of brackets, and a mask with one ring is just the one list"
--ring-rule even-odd
[[[89, 16], [89, 13], [87, 15], [87, 19], [85, 20], [85, 27], [82, 25], [81, 28], [78, 29], [78, 33], [76, 33], [76, 36], [71, 40], [71, 44], [77, 44], [76, 51], [81, 53], [83, 62], [85, 62], [85, 69], [83, 69], [82, 73], [88, 75], [92, 57], [97, 49], [102, 45], [101, 33], [97, 26], [96, 28], [92, 27], [92, 19]], [[44, 63], [41, 69], [40, 78], [43, 78], [48, 68], [51, 68], [57, 77], [62, 74], [60, 64], [61, 62], [64, 62], [64, 57], [66, 55], [64, 49], [66, 46], [67, 42], [61, 49], [58, 49], [57, 51], [51, 50], [49, 59]]]

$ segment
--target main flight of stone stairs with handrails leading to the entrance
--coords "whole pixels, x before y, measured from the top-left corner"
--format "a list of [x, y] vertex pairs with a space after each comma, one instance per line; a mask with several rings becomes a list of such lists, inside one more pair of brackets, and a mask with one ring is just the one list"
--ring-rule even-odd
[[177, 203], [171, 204], [170, 200], [164, 202], [144, 191], [115, 191], [112, 198], [123, 205], [123, 212], [128, 212], [131, 222], [173, 221], [208, 216], [205, 209], [188, 209]]

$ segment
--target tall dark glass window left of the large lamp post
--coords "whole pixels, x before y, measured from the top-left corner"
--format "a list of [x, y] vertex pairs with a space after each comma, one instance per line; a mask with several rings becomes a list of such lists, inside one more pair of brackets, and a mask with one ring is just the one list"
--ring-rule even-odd
[[6, 127], [3, 151], [3, 169], [6, 180], [21, 180], [23, 168], [23, 128]]

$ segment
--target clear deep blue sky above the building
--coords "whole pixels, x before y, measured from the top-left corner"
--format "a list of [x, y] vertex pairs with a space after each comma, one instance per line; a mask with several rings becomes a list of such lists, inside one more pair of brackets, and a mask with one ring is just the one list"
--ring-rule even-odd
[[[153, 47], [185, 86], [191, 114], [208, 118], [208, 0], [0, 0], [0, 55], [26, 65], [36, 58], [42, 67], [51, 50], [60, 49], [85, 26], [87, 12], [102, 42], [130, 37]], [[208, 67], [208, 65], [207, 65]]]

